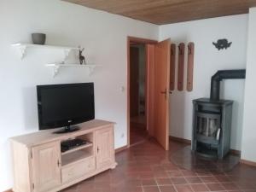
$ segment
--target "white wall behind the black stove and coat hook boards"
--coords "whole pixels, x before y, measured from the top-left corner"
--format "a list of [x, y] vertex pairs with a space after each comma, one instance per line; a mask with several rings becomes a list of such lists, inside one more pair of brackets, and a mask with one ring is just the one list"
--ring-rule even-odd
[[[209, 97], [211, 77], [221, 69], [246, 67], [247, 15], [234, 15], [207, 20], [195, 20], [160, 26], [160, 40], [171, 38], [172, 43], [195, 43], [194, 90], [173, 91], [171, 95], [170, 134], [191, 139], [192, 100]], [[229, 49], [216, 49], [212, 42], [227, 38], [232, 42]], [[187, 49], [186, 49], [187, 51]], [[185, 60], [187, 61], [187, 59]], [[176, 67], [177, 68], [177, 67]], [[186, 74], [186, 71], [185, 73]], [[186, 82], [186, 75], [184, 76]], [[184, 89], [186, 87], [184, 86]], [[244, 80], [225, 80], [222, 98], [234, 100], [231, 148], [241, 149]]]

